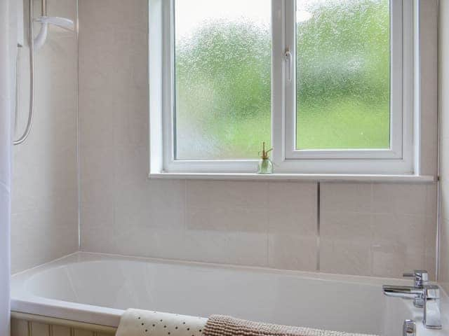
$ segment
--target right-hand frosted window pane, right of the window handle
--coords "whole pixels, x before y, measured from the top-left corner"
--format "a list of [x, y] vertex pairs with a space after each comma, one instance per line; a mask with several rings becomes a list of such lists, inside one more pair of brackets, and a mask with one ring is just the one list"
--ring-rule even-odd
[[297, 0], [297, 149], [389, 148], [388, 0]]

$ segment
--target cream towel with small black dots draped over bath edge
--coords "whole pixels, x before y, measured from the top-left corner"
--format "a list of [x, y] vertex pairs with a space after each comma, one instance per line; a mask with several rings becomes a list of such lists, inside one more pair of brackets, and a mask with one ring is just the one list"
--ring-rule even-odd
[[201, 336], [207, 318], [128, 309], [116, 336]]

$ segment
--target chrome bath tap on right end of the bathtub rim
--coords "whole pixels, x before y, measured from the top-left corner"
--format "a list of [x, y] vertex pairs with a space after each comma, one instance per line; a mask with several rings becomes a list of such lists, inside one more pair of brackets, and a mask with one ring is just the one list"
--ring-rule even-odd
[[424, 309], [423, 323], [429, 329], [441, 329], [440, 288], [429, 284], [429, 274], [424, 270], [403, 274], [415, 279], [415, 286], [382, 286], [387, 296], [413, 299], [415, 307]]

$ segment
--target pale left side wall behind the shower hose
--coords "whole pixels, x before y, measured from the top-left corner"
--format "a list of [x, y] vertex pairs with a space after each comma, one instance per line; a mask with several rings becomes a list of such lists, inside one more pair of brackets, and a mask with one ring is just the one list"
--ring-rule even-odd
[[[40, 8], [40, 1], [35, 0], [36, 16], [41, 15]], [[48, 0], [48, 15], [76, 20], [76, 0]], [[78, 249], [77, 62], [76, 35], [50, 29], [46, 45], [36, 51], [32, 132], [25, 144], [13, 149], [13, 273]], [[15, 137], [24, 129], [28, 113], [27, 47], [20, 51], [20, 64]]]

